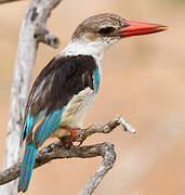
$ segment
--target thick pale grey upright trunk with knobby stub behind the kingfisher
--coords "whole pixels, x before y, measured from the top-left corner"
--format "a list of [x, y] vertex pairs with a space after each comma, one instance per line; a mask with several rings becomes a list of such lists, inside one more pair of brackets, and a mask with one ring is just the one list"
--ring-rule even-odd
[[[31, 0], [22, 23], [11, 89], [4, 169], [16, 164], [21, 155], [21, 126], [38, 43], [44, 42], [53, 48], [60, 44], [60, 40], [45, 27], [51, 11], [60, 2], [61, 0]], [[0, 188], [0, 194], [16, 194], [16, 181], [4, 185]]]

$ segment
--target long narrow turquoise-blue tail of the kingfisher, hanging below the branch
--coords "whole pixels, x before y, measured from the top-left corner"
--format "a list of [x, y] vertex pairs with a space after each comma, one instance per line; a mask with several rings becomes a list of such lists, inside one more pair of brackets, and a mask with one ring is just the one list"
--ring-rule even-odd
[[38, 148], [35, 147], [32, 142], [26, 144], [25, 155], [19, 174], [18, 192], [26, 192], [28, 188], [37, 151]]

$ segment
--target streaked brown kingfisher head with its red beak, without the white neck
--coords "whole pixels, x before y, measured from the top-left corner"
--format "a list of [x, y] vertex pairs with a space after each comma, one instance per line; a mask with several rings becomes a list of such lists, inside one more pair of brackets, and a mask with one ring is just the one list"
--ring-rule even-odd
[[84, 20], [76, 28], [71, 40], [83, 42], [105, 42], [111, 44], [121, 38], [154, 34], [167, 26], [127, 21], [119, 15], [103, 13]]

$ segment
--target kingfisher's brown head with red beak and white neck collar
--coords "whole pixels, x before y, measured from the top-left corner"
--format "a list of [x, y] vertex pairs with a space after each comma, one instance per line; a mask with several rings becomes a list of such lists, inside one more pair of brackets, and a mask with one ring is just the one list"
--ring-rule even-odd
[[107, 48], [118, 40], [131, 36], [154, 34], [167, 26], [132, 22], [116, 14], [103, 13], [88, 17], [76, 28], [71, 41], [61, 55], [87, 54], [102, 62]]

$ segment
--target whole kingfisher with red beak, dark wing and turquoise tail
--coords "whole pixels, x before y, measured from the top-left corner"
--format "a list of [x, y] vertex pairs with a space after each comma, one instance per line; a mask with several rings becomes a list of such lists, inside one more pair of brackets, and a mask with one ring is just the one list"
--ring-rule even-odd
[[66, 148], [72, 145], [98, 92], [105, 51], [124, 38], [166, 29], [110, 13], [90, 16], [77, 26], [69, 43], [40, 72], [29, 92], [21, 133], [25, 154], [18, 192], [27, 191], [38, 148], [47, 139], [57, 138]]

